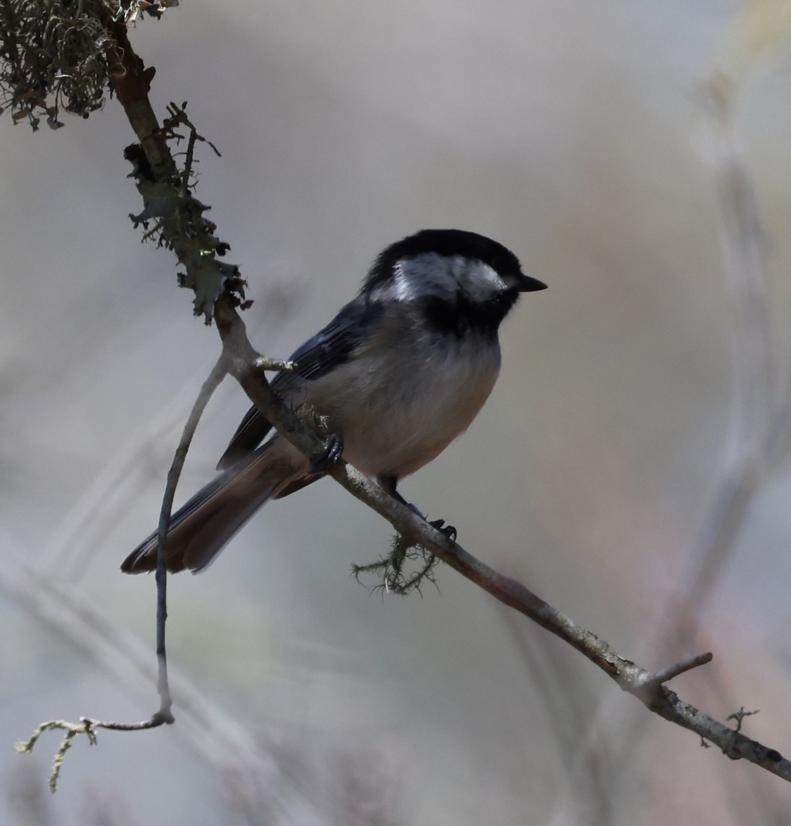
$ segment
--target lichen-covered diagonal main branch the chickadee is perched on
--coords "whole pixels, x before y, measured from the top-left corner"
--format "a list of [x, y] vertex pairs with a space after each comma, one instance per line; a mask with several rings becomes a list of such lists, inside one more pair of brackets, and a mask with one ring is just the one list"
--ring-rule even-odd
[[[173, 249], [179, 263], [187, 269], [187, 276], [182, 280], [182, 284], [193, 287], [196, 292], [199, 292], [201, 282], [215, 285], [216, 292], [213, 296], [199, 292], [196, 309], [203, 312], [207, 319], [213, 317], [216, 320], [228, 371], [278, 432], [310, 457], [324, 443], [272, 392], [263, 376], [263, 359], [250, 344], [244, 322], [236, 310], [243, 300], [241, 287], [244, 282], [239, 278], [235, 267], [217, 260], [217, 256], [224, 254], [228, 249], [227, 245], [216, 239], [216, 226], [202, 217], [206, 207], [193, 199], [190, 192], [184, 192], [179, 183], [182, 178], [173, 172], [173, 160], [169, 163], [167, 161], [168, 140], [172, 135], [166, 134], [161, 128], [152, 132], [152, 124], [156, 124], [156, 119], [148, 100], [151, 76], [131, 49], [126, 39], [126, 30], [120, 34], [119, 71], [124, 78], [124, 93], [119, 93], [118, 97], [125, 108], [130, 125], [140, 140], [139, 146], [127, 150], [127, 157], [135, 162], [133, 176], [144, 200], [144, 215], [158, 216], [157, 231], [160, 243]], [[126, 66], [123, 65], [127, 60], [130, 61], [129, 71], [126, 71]], [[140, 118], [139, 113], [142, 113]], [[192, 128], [186, 121], [186, 116], [182, 120], [182, 125], [185, 123]], [[150, 157], [149, 152], [152, 153]], [[158, 169], [163, 170], [164, 174], [160, 175]], [[189, 170], [186, 172], [188, 176]], [[173, 214], [168, 209], [172, 209]], [[201, 247], [201, 240], [205, 241], [205, 246]], [[443, 562], [488, 591], [504, 605], [518, 610], [588, 657], [612, 677], [623, 691], [636, 696], [655, 714], [715, 743], [728, 757], [744, 757], [791, 781], [791, 762], [784, 759], [779, 752], [756, 743], [703, 714], [694, 706], [680, 700], [675, 692], [664, 685], [670, 677], [708, 662], [710, 655], [701, 655], [693, 661], [667, 667], [661, 672], [648, 672], [615, 653], [604, 640], [581, 628], [520, 582], [505, 577], [467, 552], [461, 545], [450, 542], [438, 530], [433, 529], [348, 463], [340, 462], [329, 470], [329, 476], [343, 485], [353, 496], [376, 510], [407, 539], [414, 540], [430, 553], [436, 554]]]

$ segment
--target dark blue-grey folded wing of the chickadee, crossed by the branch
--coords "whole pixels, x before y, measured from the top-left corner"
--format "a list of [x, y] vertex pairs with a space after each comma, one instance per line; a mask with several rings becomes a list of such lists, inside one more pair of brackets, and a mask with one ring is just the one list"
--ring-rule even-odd
[[[382, 307], [358, 296], [344, 306], [329, 324], [291, 354], [294, 370], [282, 370], [272, 378], [272, 389], [287, 393], [305, 382], [326, 375], [347, 362], [381, 324]], [[255, 407], [251, 407], [230, 440], [217, 464], [218, 470], [231, 468], [256, 449], [272, 425]]]

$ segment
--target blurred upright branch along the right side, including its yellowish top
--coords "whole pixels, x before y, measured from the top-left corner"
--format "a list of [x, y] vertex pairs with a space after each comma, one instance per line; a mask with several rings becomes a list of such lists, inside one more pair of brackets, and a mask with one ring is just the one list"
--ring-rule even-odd
[[750, 79], [786, 59], [789, 36], [787, 4], [741, 4], [697, 96], [702, 156], [718, 199], [722, 272], [731, 298], [732, 405], [720, 482], [693, 549], [689, 582], [675, 601], [670, 644], [694, 637], [696, 615], [730, 558], [755, 492], [791, 451], [791, 379], [781, 381], [774, 370], [765, 235], [737, 138], [741, 92]]

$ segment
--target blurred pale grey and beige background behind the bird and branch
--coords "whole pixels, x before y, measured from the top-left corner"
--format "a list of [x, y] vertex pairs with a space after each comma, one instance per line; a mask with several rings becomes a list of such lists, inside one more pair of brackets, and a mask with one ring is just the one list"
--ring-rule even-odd
[[[504, 325], [484, 411], [402, 491], [623, 656], [713, 650], [672, 687], [718, 719], [760, 709], [744, 730], [784, 753], [785, 5], [225, 0], [132, 32], [159, 113], [187, 100], [222, 153], [199, 147], [197, 196], [266, 354], [290, 354], [422, 227], [491, 235], [549, 285]], [[701, 91], [715, 71], [732, 81], [723, 133]], [[0, 822], [791, 822], [783, 781], [701, 748], [448, 569], [422, 598], [355, 582], [391, 529], [330, 481], [169, 581], [177, 723], [79, 739], [50, 795], [59, 735], [31, 757], [17, 739], [158, 705], [141, 676], [154, 577], [118, 567], [156, 524], [220, 345], [127, 217], [134, 136], [115, 101], [57, 133], [0, 118], [0, 135]], [[729, 164], [760, 220], [741, 247]], [[226, 380], [177, 501], [247, 407]]]

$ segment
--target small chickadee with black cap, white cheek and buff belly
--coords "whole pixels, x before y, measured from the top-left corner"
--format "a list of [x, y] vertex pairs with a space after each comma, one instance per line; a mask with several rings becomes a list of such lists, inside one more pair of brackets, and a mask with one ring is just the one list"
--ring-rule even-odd
[[[502, 244], [463, 230], [422, 230], [387, 247], [358, 297], [296, 350], [272, 379], [343, 440], [343, 457], [404, 501], [396, 484], [462, 434], [500, 372], [500, 322], [520, 292], [546, 287]], [[177, 513], [168, 570], [201, 571], [270, 499], [324, 474], [253, 407], [217, 465], [222, 473]], [[262, 444], [263, 443], [263, 444]], [[152, 571], [157, 534], [121, 571]]]

